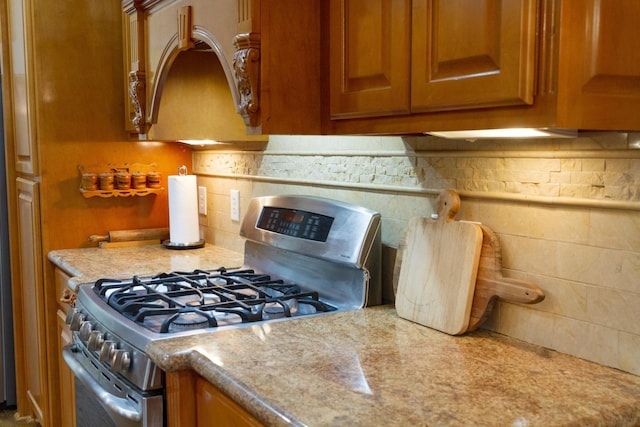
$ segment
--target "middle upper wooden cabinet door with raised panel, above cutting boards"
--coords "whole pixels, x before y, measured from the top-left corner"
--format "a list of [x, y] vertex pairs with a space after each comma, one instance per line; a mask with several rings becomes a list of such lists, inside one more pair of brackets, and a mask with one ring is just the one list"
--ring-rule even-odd
[[411, 110], [533, 103], [536, 0], [413, 0]]

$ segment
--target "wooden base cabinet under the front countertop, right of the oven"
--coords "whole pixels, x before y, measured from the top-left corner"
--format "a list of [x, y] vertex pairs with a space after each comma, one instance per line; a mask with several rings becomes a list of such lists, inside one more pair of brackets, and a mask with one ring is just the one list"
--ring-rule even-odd
[[193, 371], [166, 374], [169, 427], [258, 427], [263, 424]]

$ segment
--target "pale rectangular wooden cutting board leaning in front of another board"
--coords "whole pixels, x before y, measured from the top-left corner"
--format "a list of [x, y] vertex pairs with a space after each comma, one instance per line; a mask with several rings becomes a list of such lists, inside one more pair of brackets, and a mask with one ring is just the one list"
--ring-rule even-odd
[[453, 220], [459, 206], [458, 194], [444, 190], [438, 218], [413, 218], [396, 259], [398, 315], [451, 335], [469, 325], [482, 247], [480, 225]]

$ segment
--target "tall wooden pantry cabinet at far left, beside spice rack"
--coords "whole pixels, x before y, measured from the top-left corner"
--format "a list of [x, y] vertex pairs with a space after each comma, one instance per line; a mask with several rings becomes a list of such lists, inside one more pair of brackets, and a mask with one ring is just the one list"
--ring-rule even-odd
[[[59, 352], [68, 335], [60, 336], [47, 253], [84, 244], [87, 225], [109, 216], [78, 193], [78, 164], [117, 162], [131, 145], [115, 125], [123, 115], [121, 17], [112, 2], [0, 1], [16, 404], [42, 427], [71, 425], [62, 412], [73, 399], [61, 395], [69, 389]], [[115, 209], [127, 219], [146, 211]]]

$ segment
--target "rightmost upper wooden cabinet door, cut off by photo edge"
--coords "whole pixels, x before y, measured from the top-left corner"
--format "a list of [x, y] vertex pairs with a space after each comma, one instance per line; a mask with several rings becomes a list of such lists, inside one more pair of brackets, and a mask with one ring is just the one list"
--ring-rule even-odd
[[559, 122], [640, 128], [640, 1], [562, 2]]

